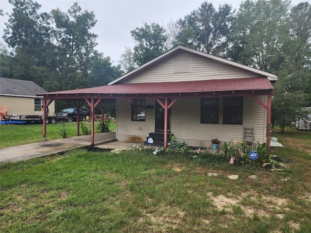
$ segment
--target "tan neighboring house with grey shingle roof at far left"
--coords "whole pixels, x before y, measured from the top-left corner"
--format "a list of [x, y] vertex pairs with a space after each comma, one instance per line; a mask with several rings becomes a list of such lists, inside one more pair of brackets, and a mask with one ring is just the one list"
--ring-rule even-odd
[[[7, 106], [7, 115], [43, 115], [43, 97], [47, 92], [32, 81], [0, 78], [0, 106]], [[54, 113], [54, 102], [49, 106]]]

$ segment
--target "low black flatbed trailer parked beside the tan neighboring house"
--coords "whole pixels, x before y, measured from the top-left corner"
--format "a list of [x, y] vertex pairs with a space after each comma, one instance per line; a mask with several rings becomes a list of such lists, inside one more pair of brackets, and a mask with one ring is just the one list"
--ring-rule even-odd
[[[26, 124], [39, 124], [43, 123], [43, 115], [3, 115], [2, 123], [5, 121], [8, 124], [8, 121], [13, 122], [23, 122]], [[46, 123], [56, 123], [56, 118], [54, 116], [47, 116]]]

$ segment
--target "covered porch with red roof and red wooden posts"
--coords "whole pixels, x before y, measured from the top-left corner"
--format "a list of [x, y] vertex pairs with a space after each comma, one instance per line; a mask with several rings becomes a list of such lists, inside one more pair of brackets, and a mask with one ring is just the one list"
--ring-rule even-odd
[[[268, 78], [241, 78], [204, 80], [189, 82], [163, 83], [126, 83], [92, 87], [79, 90], [42, 93], [44, 111], [53, 100], [72, 101], [77, 108], [84, 102], [90, 106], [91, 144], [94, 144], [94, 108], [100, 104], [104, 114], [104, 101], [107, 99], [154, 99], [164, 109], [164, 148], [169, 138], [167, 116], [170, 108], [179, 99], [208, 97], [250, 97], [266, 111], [267, 146], [270, 148], [271, 97], [273, 86]], [[260, 100], [265, 96], [266, 102]], [[169, 101], [170, 100], [170, 101]], [[118, 109], [118, 106], [117, 106]], [[78, 111], [79, 112], [79, 111]], [[44, 112], [44, 116], [46, 113]], [[77, 117], [77, 135], [79, 135], [79, 116]], [[43, 121], [43, 134], [46, 135], [46, 121]], [[118, 122], [118, 118], [117, 118]], [[48, 138], [48, 135], [46, 135]]]

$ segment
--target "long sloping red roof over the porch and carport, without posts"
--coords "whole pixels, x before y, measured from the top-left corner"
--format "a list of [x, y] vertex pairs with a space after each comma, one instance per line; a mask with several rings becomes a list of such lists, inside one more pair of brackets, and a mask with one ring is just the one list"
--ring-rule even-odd
[[273, 86], [268, 78], [244, 78], [188, 82], [113, 84], [44, 94], [164, 94], [269, 89], [273, 89]]

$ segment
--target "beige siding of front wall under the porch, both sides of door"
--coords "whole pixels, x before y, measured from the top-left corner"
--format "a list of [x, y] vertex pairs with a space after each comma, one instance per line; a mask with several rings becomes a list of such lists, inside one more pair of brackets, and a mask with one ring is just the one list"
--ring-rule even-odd
[[[259, 96], [266, 104], [267, 98]], [[222, 102], [222, 101], [221, 101]], [[127, 142], [143, 142], [149, 133], [155, 131], [155, 109], [146, 111], [146, 121], [131, 121], [131, 106], [126, 99], [117, 100], [117, 139]], [[146, 99], [146, 105], [155, 106], [154, 99]], [[178, 99], [171, 108], [171, 130], [175, 141], [185, 140], [191, 147], [198, 147], [202, 142], [211, 146], [211, 139], [218, 138], [221, 143], [242, 141], [244, 127], [253, 127], [254, 142], [266, 141], [266, 111], [251, 97], [243, 97], [243, 124], [201, 124], [201, 99]], [[141, 130], [140, 130], [141, 129]], [[228, 133], [225, 133], [228, 132]]]

